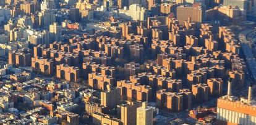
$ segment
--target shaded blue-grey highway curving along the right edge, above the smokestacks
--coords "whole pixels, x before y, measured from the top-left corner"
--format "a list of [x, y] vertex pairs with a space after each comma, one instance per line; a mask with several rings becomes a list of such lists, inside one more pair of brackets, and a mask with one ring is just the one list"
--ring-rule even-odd
[[256, 59], [254, 57], [254, 54], [252, 53], [252, 50], [249, 46], [249, 41], [247, 40], [247, 35], [249, 33], [252, 33], [254, 30], [244, 30], [239, 34], [239, 41], [241, 42], [241, 47], [245, 55], [246, 63], [248, 69], [250, 70], [250, 73], [252, 75], [252, 78], [256, 80]]

